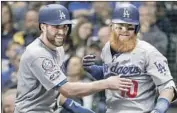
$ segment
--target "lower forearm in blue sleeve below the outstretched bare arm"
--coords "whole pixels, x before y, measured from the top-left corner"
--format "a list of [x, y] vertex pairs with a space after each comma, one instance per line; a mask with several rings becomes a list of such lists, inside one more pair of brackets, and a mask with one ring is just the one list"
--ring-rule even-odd
[[73, 101], [72, 99], [66, 98], [63, 95], [60, 95], [59, 102], [63, 108], [71, 111], [72, 113], [94, 113], [92, 110], [84, 108], [77, 102]]

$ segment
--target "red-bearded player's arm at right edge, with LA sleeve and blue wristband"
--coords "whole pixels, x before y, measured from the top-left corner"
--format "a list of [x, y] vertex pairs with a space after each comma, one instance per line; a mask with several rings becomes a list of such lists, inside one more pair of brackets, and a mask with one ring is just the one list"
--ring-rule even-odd
[[[159, 52], [151, 52], [147, 72], [159, 90], [159, 98], [151, 113], [165, 113], [175, 96], [175, 83], [168, 67], [167, 59]], [[155, 56], [155, 57], [154, 57]]]

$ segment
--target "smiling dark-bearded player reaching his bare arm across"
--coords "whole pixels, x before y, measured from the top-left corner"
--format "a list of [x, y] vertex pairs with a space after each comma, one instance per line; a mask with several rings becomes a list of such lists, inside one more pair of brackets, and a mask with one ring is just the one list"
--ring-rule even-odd
[[[111, 77], [91, 83], [70, 83], [62, 71], [63, 43], [71, 32], [68, 10], [50, 4], [39, 11], [40, 37], [24, 51], [19, 71], [14, 113], [52, 113], [59, 93], [66, 97], [85, 96], [104, 89], [128, 91], [129, 79]], [[62, 96], [61, 105], [74, 113], [93, 113]]]

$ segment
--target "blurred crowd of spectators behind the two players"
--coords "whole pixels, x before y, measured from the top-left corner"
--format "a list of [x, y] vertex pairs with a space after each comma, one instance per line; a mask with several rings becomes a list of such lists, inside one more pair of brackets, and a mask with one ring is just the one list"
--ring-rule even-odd
[[[38, 10], [45, 4], [58, 3], [69, 9], [72, 33], [67, 37], [65, 68], [71, 82], [93, 81], [82, 68], [82, 57], [94, 54], [102, 64], [100, 53], [109, 40], [112, 11], [122, 2], [1, 2], [1, 86], [3, 113], [13, 113], [17, 87], [17, 71], [25, 47], [39, 34]], [[171, 74], [177, 83], [177, 2], [131, 2], [140, 12], [138, 38], [155, 46], [167, 57]], [[104, 91], [74, 98], [81, 105], [104, 113]], [[64, 109], [61, 113], [69, 113]]]

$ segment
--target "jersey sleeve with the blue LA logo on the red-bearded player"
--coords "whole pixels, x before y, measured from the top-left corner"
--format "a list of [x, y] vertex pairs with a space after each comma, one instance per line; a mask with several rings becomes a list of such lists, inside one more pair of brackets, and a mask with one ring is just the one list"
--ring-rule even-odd
[[168, 67], [167, 59], [158, 51], [148, 54], [146, 71], [151, 75], [154, 83], [163, 85], [172, 80], [172, 76]]

